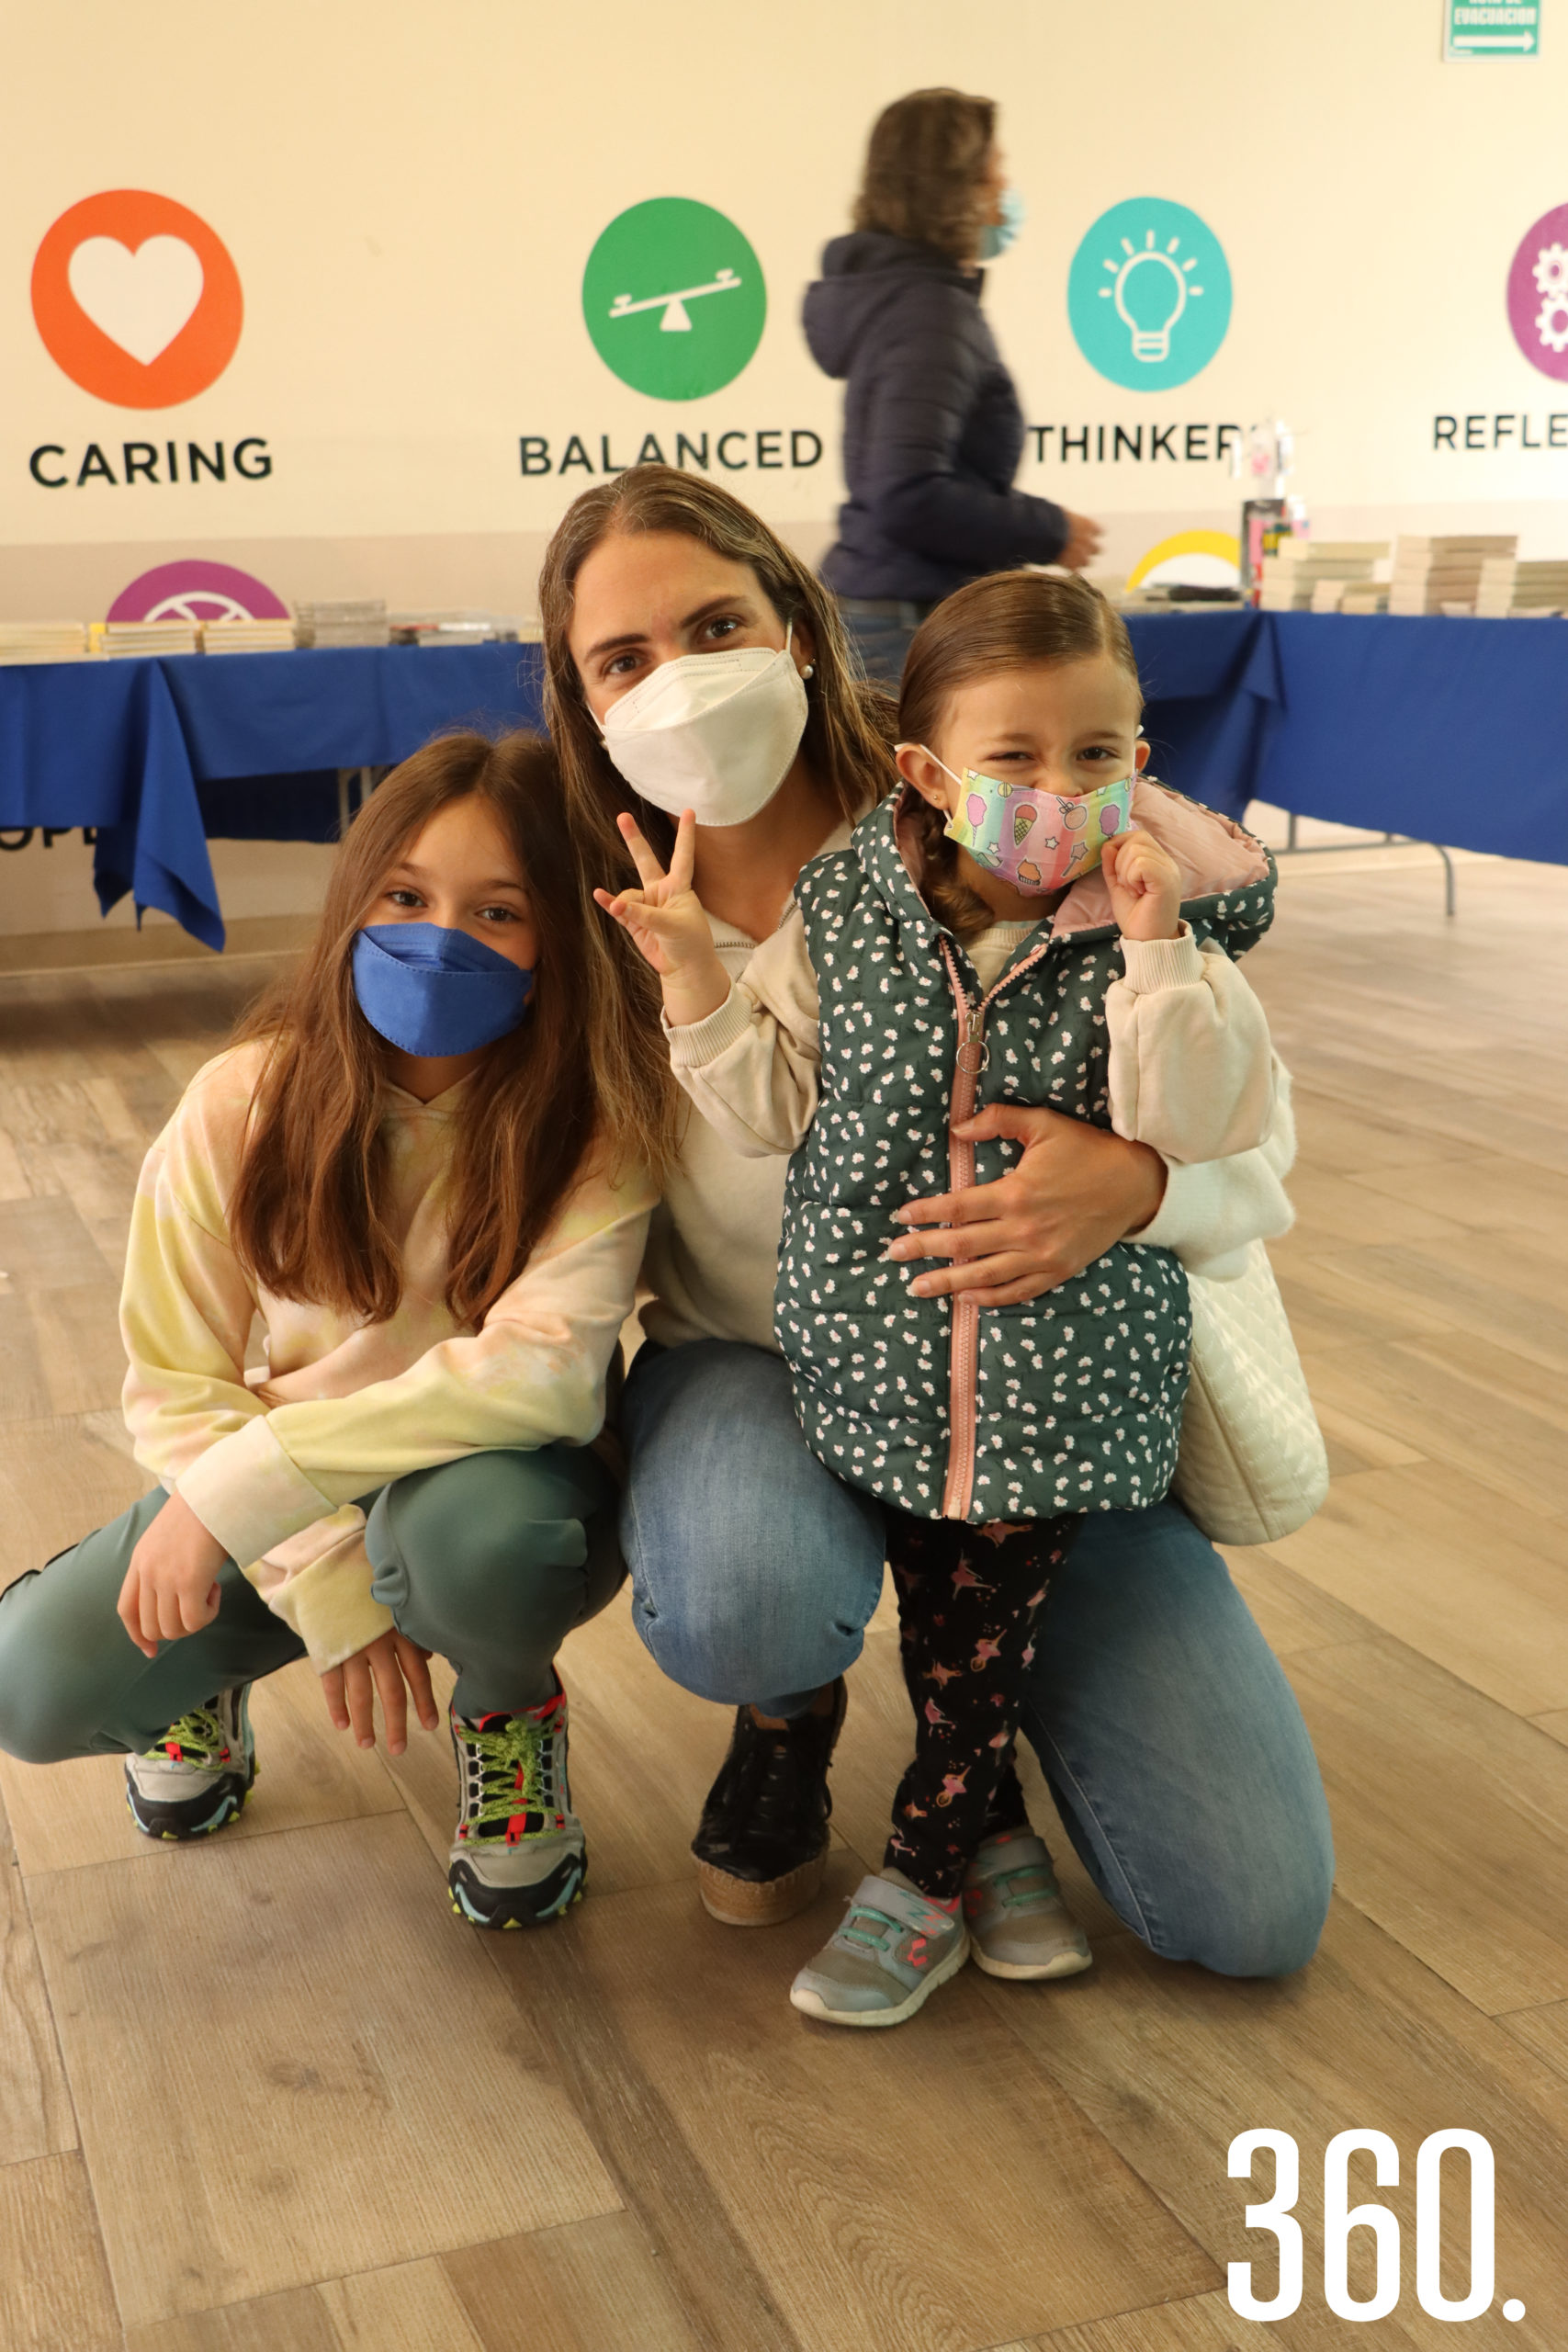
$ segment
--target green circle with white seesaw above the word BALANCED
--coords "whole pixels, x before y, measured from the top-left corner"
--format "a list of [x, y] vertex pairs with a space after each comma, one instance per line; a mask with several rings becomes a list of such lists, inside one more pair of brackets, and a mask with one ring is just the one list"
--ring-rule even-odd
[[618, 212], [583, 270], [592, 348], [656, 400], [701, 400], [733, 383], [766, 315], [757, 254], [733, 221], [684, 195]]

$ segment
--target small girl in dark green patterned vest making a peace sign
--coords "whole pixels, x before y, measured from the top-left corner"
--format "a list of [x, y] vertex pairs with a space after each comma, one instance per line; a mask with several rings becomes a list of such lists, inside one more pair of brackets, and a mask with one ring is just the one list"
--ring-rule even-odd
[[1269, 1129], [1267, 1023], [1232, 955], [1272, 917], [1272, 866], [1143, 781], [1140, 710], [1093, 588], [976, 581], [910, 647], [903, 793], [804, 870], [738, 985], [686, 821], [665, 875], [621, 818], [644, 887], [597, 894], [661, 974], [703, 1115], [741, 1152], [795, 1152], [778, 1341], [811, 1449], [886, 1505], [917, 1745], [882, 1872], [795, 1978], [795, 2006], [839, 2025], [903, 2023], [971, 1950], [1011, 1978], [1088, 1966], [1013, 1769], [1020, 1677], [1084, 1512], [1171, 1484], [1187, 1282], [1171, 1251], [1119, 1242], [983, 1310], [919, 1296], [900, 1261], [914, 1197], [1018, 1160], [987, 1105], [1044, 1103], [1178, 1162]]

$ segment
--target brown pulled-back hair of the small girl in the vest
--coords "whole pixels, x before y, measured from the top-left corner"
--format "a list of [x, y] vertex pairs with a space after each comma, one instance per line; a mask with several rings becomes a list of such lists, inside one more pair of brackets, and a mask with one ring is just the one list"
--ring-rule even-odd
[[[1121, 663], [1143, 708], [1133, 640], [1098, 588], [1077, 574], [992, 572], [957, 588], [914, 630], [898, 694], [898, 739], [933, 750], [952, 696], [976, 677], [1091, 661], [1095, 654]], [[914, 793], [907, 795], [907, 807], [924, 858], [922, 889], [936, 920], [959, 938], [990, 929], [997, 917], [964, 882], [959, 847], [947, 840], [943, 811]]]

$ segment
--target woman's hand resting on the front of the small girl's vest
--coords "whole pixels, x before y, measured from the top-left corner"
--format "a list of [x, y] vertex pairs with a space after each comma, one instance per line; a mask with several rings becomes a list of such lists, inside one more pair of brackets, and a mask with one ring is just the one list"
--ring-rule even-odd
[[987, 1103], [954, 1134], [966, 1143], [1009, 1136], [1023, 1143], [1023, 1160], [994, 1183], [896, 1211], [905, 1230], [889, 1244], [889, 1258], [952, 1261], [914, 1277], [910, 1289], [922, 1298], [961, 1291], [983, 1308], [1023, 1305], [1140, 1232], [1164, 1200], [1159, 1152], [1060, 1110]]

